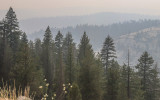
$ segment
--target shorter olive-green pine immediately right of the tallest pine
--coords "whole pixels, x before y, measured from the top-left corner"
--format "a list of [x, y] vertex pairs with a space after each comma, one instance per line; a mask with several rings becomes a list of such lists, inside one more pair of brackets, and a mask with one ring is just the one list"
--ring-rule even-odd
[[16, 53], [15, 66], [11, 70], [11, 77], [16, 79], [17, 85], [24, 89], [28, 84], [27, 74], [30, 67], [29, 47], [26, 34], [22, 34], [19, 52]]

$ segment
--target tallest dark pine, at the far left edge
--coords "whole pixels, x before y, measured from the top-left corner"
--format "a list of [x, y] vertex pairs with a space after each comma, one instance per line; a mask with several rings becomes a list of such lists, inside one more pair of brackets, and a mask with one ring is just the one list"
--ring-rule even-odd
[[11, 7], [6, 14], [5, 19], [0, 23], [0, 31], [2, 36], [2, 42], [0, 44], [2, 50], [0, 53], [0, 74], [1, 78], [3, 77], [3, 79], [7, 81], [9, 76], [8, 73], [16, 62], [16, 52], [19, 48], [21, 34], [16, 14]]

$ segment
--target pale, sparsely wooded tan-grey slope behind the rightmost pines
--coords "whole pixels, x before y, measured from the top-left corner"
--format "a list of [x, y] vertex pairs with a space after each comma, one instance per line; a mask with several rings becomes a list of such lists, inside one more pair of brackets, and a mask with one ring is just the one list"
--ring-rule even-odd
[[151, 27], [120, 36], [116, 41], [117, 56], [121, 64], [127, 62], [130, 50], [131, 65], [144, 51], [148, 51], [156, 62], [160, 60], [160, 27]]

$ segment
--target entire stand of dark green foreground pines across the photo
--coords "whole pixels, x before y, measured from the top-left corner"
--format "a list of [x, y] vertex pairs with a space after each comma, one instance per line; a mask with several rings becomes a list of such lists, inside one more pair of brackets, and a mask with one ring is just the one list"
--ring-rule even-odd
[[146, 51], [136, 66], [129, 53], [119, 65], [109, 35], [95, 54], [86, 32], [78, 46], [69, 32], [54, 38], [49, 26], [42, 41], [29, 41], [12, 8], [0, 23], [0, 79], [22, 91], [30, 86], [36, 100], [159, 100], [157, 67]]

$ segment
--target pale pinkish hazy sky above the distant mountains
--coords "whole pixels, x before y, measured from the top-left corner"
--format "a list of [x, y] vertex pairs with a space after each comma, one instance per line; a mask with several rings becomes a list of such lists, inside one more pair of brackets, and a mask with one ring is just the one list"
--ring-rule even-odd
[[160, 15], [160, 0], [0, 0], [0, 11], [10, 6], [22, 19], [97, 12]]

